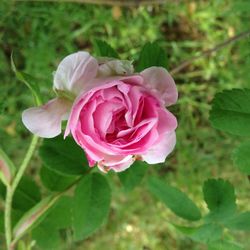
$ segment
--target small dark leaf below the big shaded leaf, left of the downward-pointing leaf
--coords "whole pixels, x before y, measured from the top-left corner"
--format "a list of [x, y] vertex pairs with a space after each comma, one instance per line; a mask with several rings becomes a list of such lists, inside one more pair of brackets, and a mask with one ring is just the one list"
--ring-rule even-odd
[[76, 180], [76, 177], [61, 175], [49, 168], [42, 167], [40, 179], [50, 191], [64, 191]]

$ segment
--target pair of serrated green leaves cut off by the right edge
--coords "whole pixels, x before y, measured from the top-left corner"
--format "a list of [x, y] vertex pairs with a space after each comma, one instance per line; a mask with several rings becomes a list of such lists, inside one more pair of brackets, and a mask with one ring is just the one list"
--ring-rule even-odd
[[[223, 132], [250, 137], [250, 89], [225, 90], [216, 94], [210, 121], [214, 128]], [[232, 157], [235, 166], [250, 175], [250, 141], [241, 143]]]

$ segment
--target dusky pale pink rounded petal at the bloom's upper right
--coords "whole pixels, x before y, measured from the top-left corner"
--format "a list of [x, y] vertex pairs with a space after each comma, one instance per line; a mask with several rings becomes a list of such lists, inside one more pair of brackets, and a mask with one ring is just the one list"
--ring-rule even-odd
[[150, 67], [141, 72], [144, 84], [156, 91], [166, 106], [176, 103], [178, 92], [172, 76], [162, 67]]

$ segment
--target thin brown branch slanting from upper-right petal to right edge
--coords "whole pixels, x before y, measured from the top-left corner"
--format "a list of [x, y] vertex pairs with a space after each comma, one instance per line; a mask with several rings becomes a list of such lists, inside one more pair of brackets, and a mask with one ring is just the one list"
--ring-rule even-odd
[[216, 52], [224, 47], [226, 47], [227, 45], [231, 44], [231, 43], [234, 43], [242, 38], [245, 38], [245, 37], [248, 37], [250, 36], [250, 30], [247, 30], [245, 32], [242, 32], [236, 36], [233, 36], [231, 37], [230, 39], [222, 42], [222, 43], [219, 43], [218, 45], [216, 45], [215, 47], [213, 47], [212, 49], [208, 49], [208, 50], [205, 50], [203, 52], [201, 52], [198, 56], [194, 56], [194, 57], [191, 57], [190, 59], [187, 59], [185, 61], [183, 61], [182, 63], [180, 63], [177, 67], [173, 68], [171, 71], [170, 71], [170, 74], [171, 75], [175, 75], [176, 73], [182, 71], [184, 68], [186, 68], [187, 66], [189, 66], [190, 64], [192, 64], [194, 61], [196, 61], [197, 59], [200, 59], [204, 56], [209, 56], [211, 55], [213, 52]]

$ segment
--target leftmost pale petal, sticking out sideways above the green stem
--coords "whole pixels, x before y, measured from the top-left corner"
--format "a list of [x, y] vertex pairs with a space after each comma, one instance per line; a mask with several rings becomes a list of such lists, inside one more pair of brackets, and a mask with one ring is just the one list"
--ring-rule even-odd
[[24, 110], [22, 121], [33, 134], [52, 138], [61, 133], [61, 121], [66, 118], [70, 108], [69, 101], [55, 98], [43, 106]]

